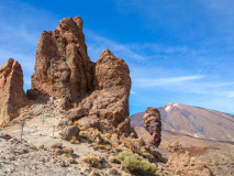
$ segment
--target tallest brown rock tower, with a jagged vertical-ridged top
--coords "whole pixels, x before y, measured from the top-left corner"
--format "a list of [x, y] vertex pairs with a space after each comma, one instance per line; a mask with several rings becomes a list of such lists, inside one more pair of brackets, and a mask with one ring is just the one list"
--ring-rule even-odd
[[53, 32], [42, 32], [36, 50], [32, 90], [78, 102], [93, 90], [92, 63], [87, 54], [82, 20], [65, 18]]

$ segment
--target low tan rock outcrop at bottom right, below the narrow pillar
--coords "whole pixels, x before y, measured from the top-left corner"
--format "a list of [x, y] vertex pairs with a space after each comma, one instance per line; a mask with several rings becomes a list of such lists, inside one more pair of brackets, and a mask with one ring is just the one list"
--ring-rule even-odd
[[212, 172], [205, 164], [196, 157], [191, 157], [188, 151], [185, 151], [180, 144], [172, 143], [168, 145], [169, 158], [166, 168], [175, 174], [185, 174], [187, 176], [212, 176]]

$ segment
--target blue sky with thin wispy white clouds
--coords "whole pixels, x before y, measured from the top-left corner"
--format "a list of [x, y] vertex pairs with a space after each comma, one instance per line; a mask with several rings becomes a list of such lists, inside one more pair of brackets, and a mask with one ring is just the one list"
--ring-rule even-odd
[[31, 87], [42, 31], [79, 15], [90, 58], [110, 48], [130, 66], [131, 114], [186, 103], [234, 113], [233, 0], [0, 1], [0, 65], [13, 57]]

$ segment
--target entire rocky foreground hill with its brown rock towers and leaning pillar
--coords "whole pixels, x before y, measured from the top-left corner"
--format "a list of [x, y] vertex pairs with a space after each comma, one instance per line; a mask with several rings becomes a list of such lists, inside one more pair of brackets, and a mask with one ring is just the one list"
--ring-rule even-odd
[[18, 112], [0, 129], [0, 175], [212, 175], [207, 165], [187, 157], [188, 152], [183, 157], [185, 152], [169, 145], [168, 157], [157, 147], [157, 109], [148, 108], [144, 116], [149, 144], [131, 128], [129, 66], [109, 50], [92, 63], [79, 16], [42, 32], [29, 101], [19, 63], [10, 59], [1, 73], [2, 85], [10, 85], [3, 95], [10, 98], [0, 100], [12, 102]]

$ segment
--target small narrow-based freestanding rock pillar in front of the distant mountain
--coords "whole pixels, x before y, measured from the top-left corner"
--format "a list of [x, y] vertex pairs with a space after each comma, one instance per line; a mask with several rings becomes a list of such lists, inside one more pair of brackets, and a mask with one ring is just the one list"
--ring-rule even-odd
[[145, 121], [144, 128], [152, 135], [152, 140], [149, 141], [149, 143], [158, 147], [161, 141], [161, 121], [158, 109], [148, 107], [143, 119]]

